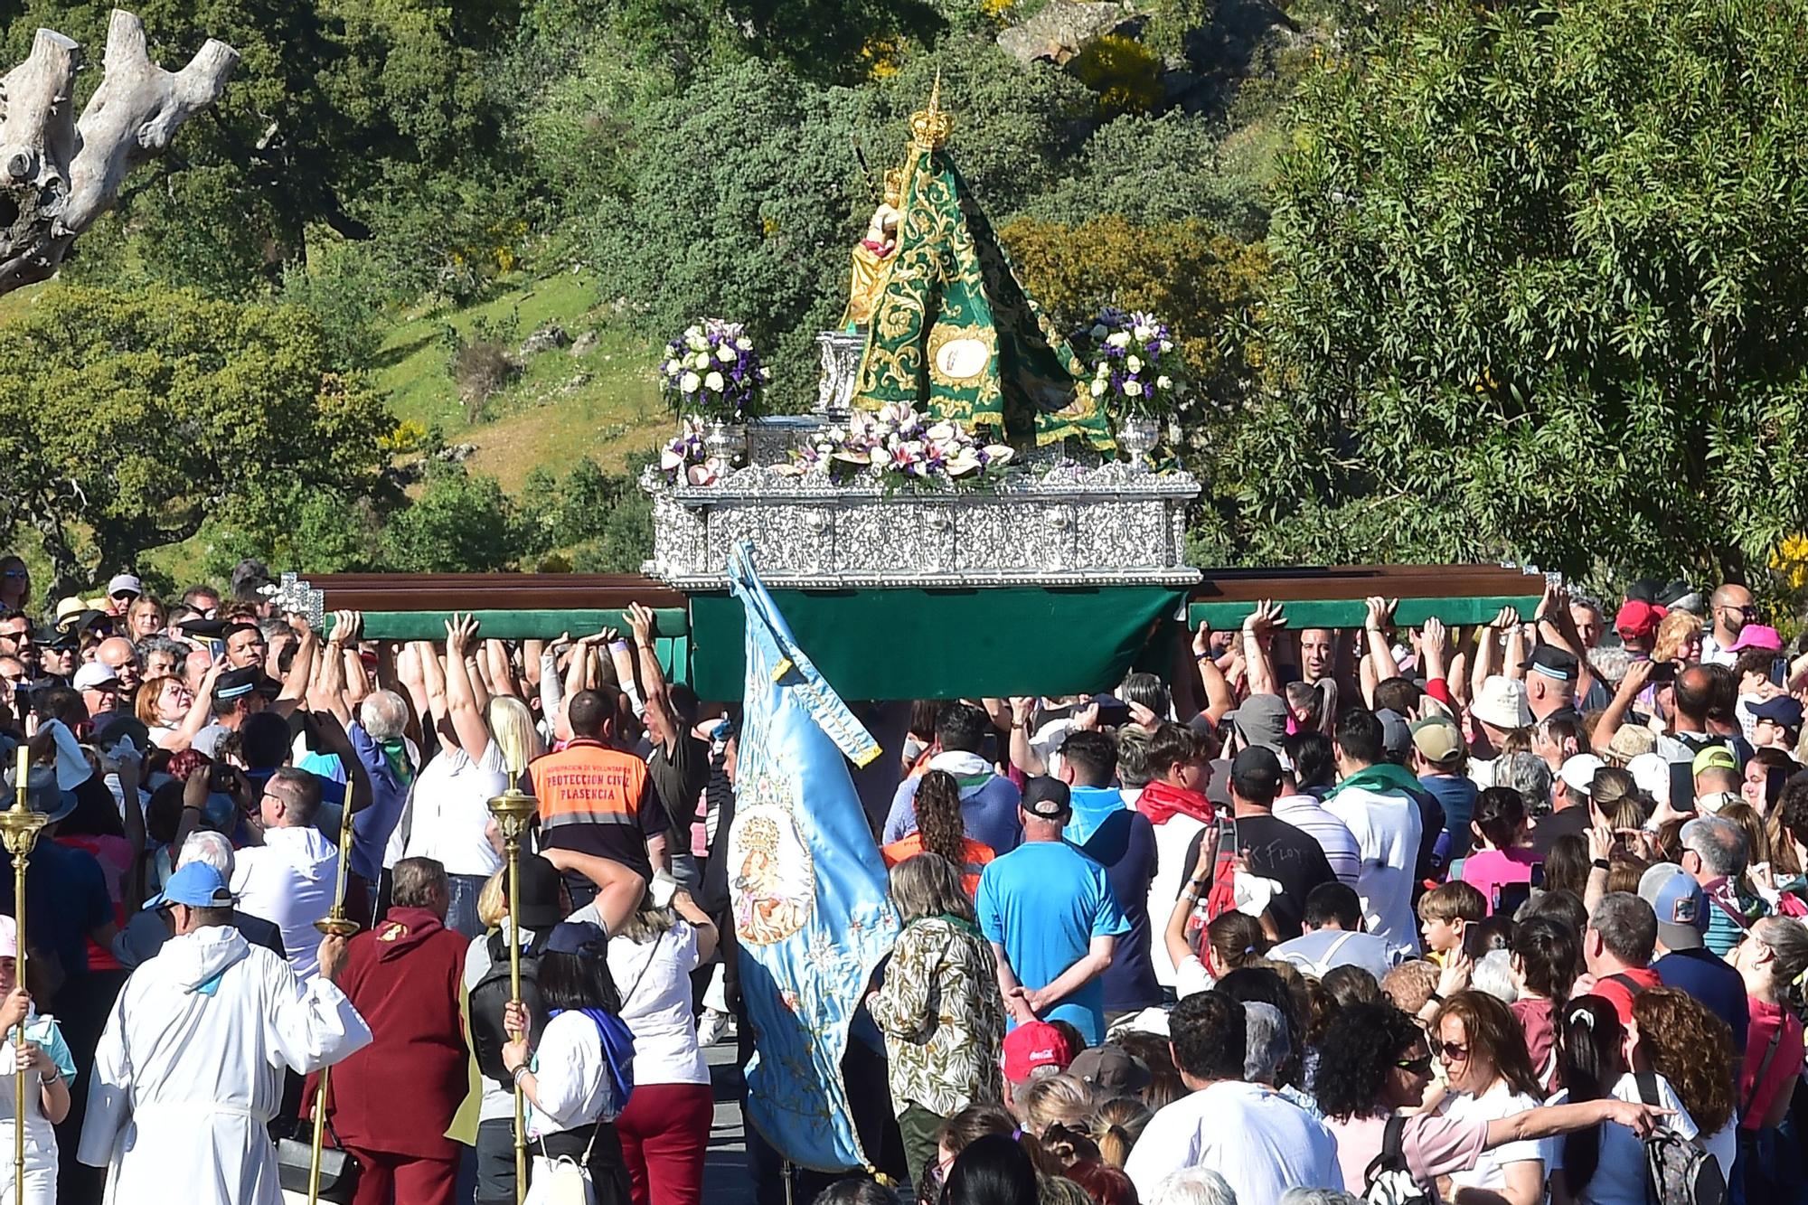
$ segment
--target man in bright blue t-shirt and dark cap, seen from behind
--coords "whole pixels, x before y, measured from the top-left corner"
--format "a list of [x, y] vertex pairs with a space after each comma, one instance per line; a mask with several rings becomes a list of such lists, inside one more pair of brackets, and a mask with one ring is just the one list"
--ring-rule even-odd
[[[1130, 932], [1105, 867], [1061, 840], [1070, 816], [1067, 783], [1032, 778], [1023, 789], [1023, 843], [980, 874], [980, 932], [1031, 990], [1047, 988], [1085, 959], [1094, 939]], [[1105, 1039], [1105, 984], [1092, 975], [1038, 1015], [1072, 1022], [1097, 1046]]]

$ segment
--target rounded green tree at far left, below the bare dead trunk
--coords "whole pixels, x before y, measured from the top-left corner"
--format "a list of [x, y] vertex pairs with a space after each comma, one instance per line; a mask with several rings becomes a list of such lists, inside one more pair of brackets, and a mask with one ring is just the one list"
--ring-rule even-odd
[[297, 306], [52, 284], [0, 360], [0, 527], [36, 528], [60, 590], [208, 519], [269, 541], [273, 499], [381, 492], [394, 418]]

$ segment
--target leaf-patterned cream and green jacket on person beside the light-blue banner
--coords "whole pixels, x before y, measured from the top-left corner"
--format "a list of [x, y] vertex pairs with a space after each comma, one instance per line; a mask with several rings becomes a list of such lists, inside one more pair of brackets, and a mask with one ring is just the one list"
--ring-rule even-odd
[[886, 1035], [897, 1113], [915, 1104], [953, 1116], [1003, 1095], [1005, 1004], [993, 950], [975, 925], [953, 916], [906, 925], [868, 1011]]

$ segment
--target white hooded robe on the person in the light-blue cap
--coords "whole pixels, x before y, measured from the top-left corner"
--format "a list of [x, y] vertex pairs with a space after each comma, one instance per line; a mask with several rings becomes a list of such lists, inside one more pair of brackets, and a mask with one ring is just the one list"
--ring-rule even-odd
[[172, 937], [107, 1019], [76, 1158], [107, 1167], [108, 1205], [280, 1205], [266, 1125], [282, 1067], [315, 1071], [369, 1042], [344, 992], [304, 986], [237, 928]]

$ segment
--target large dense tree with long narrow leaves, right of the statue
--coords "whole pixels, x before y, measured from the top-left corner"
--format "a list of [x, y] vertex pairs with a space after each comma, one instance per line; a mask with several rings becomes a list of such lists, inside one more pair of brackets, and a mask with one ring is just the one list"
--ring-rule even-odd
[[1257, 559], [1757, 572], [1808, 521], [1808, 40], [1770, 0], [1436, 0], [1302, 85]]

